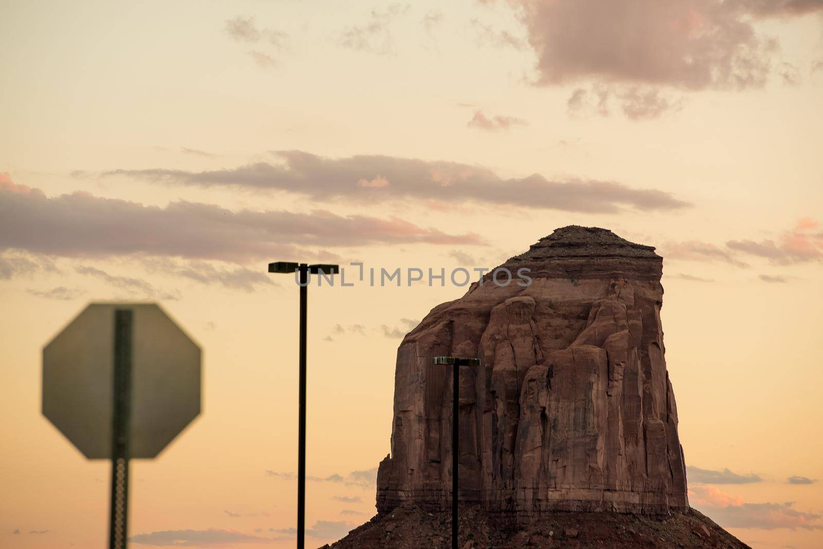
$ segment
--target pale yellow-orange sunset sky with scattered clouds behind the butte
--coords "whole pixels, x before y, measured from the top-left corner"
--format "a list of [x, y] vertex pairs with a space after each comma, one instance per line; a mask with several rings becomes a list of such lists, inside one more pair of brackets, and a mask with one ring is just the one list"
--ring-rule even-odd
[[[0, 0], [0, 547], [101, 547], [109, 464], [40, 413], [88, 302], [159, 302], [202, 414], [132, 466], [134, 547], [292, 547], [298, 292], [307, 536], [374, 514], [398, 344], [568, 224], [663, 256], [695, 508], [823, 545], [823, 2]], [[353, 278], [352, 278], [353, 279]], [[819, 481], [818, 479], [821, 479]]]

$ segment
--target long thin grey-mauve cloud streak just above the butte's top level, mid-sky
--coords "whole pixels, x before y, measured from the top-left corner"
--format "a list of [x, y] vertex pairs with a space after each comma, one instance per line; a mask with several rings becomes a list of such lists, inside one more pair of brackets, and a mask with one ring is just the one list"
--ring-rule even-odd
[[[314, 201], [439, 201], [513, 205], [580, 213], [681, 210], [690, 204], [656, 189], [635, 189], [619, 182], [570, 179], [550, 181], [540, 174], [500, 178], [481, 166], [444, 161], [356, 155], [329, 159], [299, 150], [274, 151], [278, 164], [259, 162], [238, 168], [188, 172], [177, 169], [118, 169], [102, 177], [123, 176], [148, 182], [193, 187], [270, 189], [307, 196]], [[384, 178], [384, 187], [358, 182]]]

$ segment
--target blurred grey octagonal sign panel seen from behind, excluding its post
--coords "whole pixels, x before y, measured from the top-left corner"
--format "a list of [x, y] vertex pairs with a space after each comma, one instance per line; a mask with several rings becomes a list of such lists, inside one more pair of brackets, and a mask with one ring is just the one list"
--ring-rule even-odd
[[114, 311], [133, 311], [130, 458], [154, 458], [200, 413], [200, 348], [154, 303], [92, 303], [43, 348], [43, 414], [111, 459]]

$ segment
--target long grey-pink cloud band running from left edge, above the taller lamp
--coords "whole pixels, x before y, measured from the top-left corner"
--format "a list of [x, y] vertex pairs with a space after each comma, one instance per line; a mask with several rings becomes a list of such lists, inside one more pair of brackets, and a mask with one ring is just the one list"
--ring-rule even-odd
[[[443, 233], [396, 217], [314, 210], [227, 210], [177, 201], [165, 207], [93, 196], [49, 197], [38, 189], [0, 185], [0, 251], [64, 257], [167, 256], [233, 262], [303, 255], [302, 247], [353, 247], [425, 242], [477, 244], [477, 234]], [[0, 272], [9, 267], [3, 263]]]

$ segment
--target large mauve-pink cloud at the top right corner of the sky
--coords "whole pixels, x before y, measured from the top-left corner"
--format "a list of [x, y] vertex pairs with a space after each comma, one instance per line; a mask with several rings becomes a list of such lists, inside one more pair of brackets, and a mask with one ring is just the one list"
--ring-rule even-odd
[[[797, 0], [519, 0], [513, 2], [537, 56], [537, 85], [602, 85], [641, 96], [624, 105], [629, 118], [671, 108], [670, 90], [762, 88], [779, 56], [776, 39], [753, 19], [823, 10]], [[782, 76], [780, 67], [778, 75]]]

